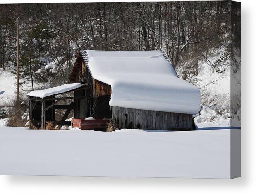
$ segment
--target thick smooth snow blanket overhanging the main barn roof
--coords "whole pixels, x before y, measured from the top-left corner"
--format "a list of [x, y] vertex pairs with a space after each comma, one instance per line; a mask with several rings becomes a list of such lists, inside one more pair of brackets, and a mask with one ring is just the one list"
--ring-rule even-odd
[[198, 113], [200, 91], [179, 79], [163, 51], [81, 51], [94, 79], [111, 85], [110, 106]]

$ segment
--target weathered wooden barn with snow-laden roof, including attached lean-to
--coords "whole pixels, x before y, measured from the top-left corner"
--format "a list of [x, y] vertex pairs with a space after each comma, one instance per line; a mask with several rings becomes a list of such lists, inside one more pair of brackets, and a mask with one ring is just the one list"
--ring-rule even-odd
[[[192, 115], [200, 108], [199, 89], [178, 78], [164, 51], [81, 50], [69, 83], [57, 86], [65, 90], [55, 87], [41, 91], [43, 95], [29, 94], [32, 106], [33, 101], [42, 106], [42, 127], [45, 115], [54, 120], [55, 108], [60, 107], [61, 98], [54, 96], [70, 91], [74, 101], [62, 105], [65, 115], [73, 109], [74, 118], [111, 118], [118, 128], [192, 130]], [[33, 122], [33, 107], [30, 112]], [[65, 115], [58, 123], [65, 123]]]

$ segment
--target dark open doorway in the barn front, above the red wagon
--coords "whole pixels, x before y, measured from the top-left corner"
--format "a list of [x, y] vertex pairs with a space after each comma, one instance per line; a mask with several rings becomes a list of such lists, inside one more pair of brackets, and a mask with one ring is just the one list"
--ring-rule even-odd
[[99, 96], [96, 101], [94, 113], [91, 116], [94, 118], [111, 118], [109, 101], [109, 95]]

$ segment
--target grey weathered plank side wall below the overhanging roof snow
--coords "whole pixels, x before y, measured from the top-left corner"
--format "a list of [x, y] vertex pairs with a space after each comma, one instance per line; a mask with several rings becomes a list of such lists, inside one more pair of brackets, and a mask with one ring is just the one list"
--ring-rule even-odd
[[192, 115], [112, 106], [112, 123], [119, 128], [193, 130]]

